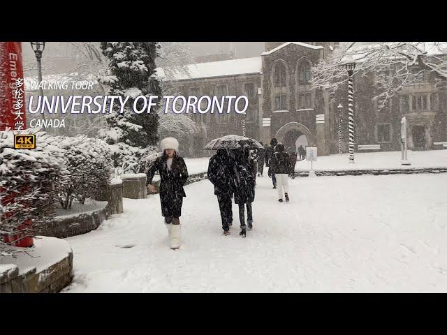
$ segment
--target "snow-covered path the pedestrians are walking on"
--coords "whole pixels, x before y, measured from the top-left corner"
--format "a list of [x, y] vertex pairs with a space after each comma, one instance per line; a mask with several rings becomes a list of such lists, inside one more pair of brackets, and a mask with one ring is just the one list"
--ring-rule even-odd
[[182, 247], [168, 248], [159, 195], [66, 239], [64, 292], [447, 292], [447, 174], [290, 179], [279, 203], [257, 179], [254, 230], [237, 207], [222, 235], [210, 181], [186, 186]]

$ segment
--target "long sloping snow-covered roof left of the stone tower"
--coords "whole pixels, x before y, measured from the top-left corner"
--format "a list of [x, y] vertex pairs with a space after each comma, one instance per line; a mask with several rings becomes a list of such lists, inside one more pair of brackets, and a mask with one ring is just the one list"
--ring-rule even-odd
[[[228, 61], [210, 61], [186, 65], [189, 76], [184, 71], [170, 71], [174, 77], [166, 77], [163, 68], [156, 68], [157, 76], [163, 80], [189, 80], [208, 77], [226, 77], [228, 75], [247, 75], [250, 73], [261, 73], [261, 57], [230, 59]], [[166, 69], [167, 70], [167, 69]]]

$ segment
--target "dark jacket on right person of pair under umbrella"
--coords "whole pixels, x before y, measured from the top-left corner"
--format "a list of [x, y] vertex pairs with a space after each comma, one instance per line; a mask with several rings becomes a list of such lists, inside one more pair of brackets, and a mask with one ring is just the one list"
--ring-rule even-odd
[[254, 202], [254, 171], [256, 171], [256, 163], [247, 156], [240, 155], [237, 157], [234, 165], [235, 204]]

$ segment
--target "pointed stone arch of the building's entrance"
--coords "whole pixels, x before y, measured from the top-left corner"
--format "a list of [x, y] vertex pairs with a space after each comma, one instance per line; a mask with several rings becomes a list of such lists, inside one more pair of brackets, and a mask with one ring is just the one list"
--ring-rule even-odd
[[279, 128], [275, 137], [278, 142], [284, 143], [286, 149], [294, 147], [297, 152], [300, 145], [302, 145], [302, 147], [316, 146], [314, 135], [312, 135], [306, 126], [299, 124], [298, 122], [289, 122], [288, 124], [285, 124]]

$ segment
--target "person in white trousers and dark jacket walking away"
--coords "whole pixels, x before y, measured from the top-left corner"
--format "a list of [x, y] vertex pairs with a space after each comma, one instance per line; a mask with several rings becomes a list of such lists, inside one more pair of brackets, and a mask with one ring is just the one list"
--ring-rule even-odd
[[276, 152], [273, 154], [270, 160], [269, 174], [276, 174], [278, 182], [278, 196], [279, 202], [282, 202], [283, 188], [284, 196], [288, 201], [288, 174], [290, 172], [291, 158], [284, 151], [284, 144], [278, 143], [276, 146]]

